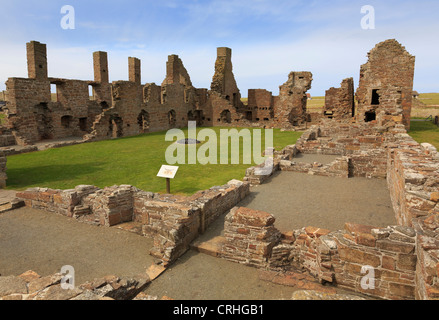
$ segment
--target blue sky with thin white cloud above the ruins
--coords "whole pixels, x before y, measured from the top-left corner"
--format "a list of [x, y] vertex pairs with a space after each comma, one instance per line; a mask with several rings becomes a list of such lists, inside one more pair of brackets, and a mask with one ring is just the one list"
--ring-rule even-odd
[[[107, 51], [110, 80], [128, 79], [128, 57], [142, 60], [142, 83], [160, 84], [168, 55], [178, 54], [194, 86], [210, 88], [216, 48], [233, 50], [242, 96], [279, 93], [290, 71], [311, 71], [313, 95], [347, 77], [358, 86], [361, 64], [378, 42], [397, 39], [416, 56], [414, 89], [439, 92], [439, 1], [296, 0], [0, 0], [0, 90], [27, 77], [26, 42], [47, 44], [49, 76], [93, 79], [92, 53]], [[61, 7], [75, 9], [75, 29], [60, 26]], [[361, 7], [375, 8], [363, 30]]]

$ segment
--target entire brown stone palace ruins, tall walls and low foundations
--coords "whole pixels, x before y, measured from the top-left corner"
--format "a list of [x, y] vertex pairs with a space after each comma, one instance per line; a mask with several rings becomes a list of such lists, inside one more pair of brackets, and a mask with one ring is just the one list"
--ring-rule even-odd
[[[306, 109], [310, 72], [291, 72], [279, 96], [249, 90], [248, 104], [243, 104], [228, 48], [218, 48], [210, 90], [194, 88], [175, 55], [169, 56], [166, 79], [158, 86], [141, 84], [136, 58], [129, 58], [129, 81], [110, 84], [104, 52], [94, 53], [94, 81], [48, 78], [46, 46], [31, 42], [27, 49], [29, 78], [7, 82], [5, 145], [70, 136], [110, 139], [185, 127], [188, 120], [203, 126], [285, 129], [310, 121]], [[386, 179], [396, 226], [347, 222], [345, 230], [304, 226], [281, 232], [275, 226], [276, 212], [236, 207], [251, 185], [264, 183], [272, 174], [258, 174], [257, 167], [249, 168], [243, 181], [232, 180], [190, 197], [153, 194], [133, 186], [77, 186], [28, 189], [17, 199], [27, 207], [101, 226], [134, 222], [139, 234], [154, 239], [150, 254], [164, 266], [192, 246], [263, 269], [267, 278], [275, 277], [271, 272], [299, 270], [322, 284], [374, 298], [439, 299], [439, 153], [407, 134], [415, 58], [396, 40], [377, 44], [368, 57], [357, 91], [352, 78], [329, 89], [321, 121], [295, 145], [274, 152], [274, 171]], [[51, 85], [57, 87], [56, 102], [51, 101]], [[93, 89], [91, 98], [88, 86]], [[295, 161], [299, 153], [338, 158], [327, 165], [299, 163]], [[197, 244], [197, 237], [226, 213], [224, 235]], [[364, 266], [376, 271], [373, 290], [361, 285]], [[293, 280], [291, 276], [289, 281]]]

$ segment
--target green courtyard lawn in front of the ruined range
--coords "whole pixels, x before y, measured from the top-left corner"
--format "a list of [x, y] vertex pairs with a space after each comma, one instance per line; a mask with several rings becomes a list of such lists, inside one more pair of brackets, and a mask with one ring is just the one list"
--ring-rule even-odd
[[[201, 129], [197, 128], [197, 131]], [[216, 132], [219, 141], [220, 130], [229, 128], [210, 129]], [[183, 131], [187, 137], [187, 129]], [[287, 145], [295, 144], [301, 134], [274, 130], [274, 147], [281, 150]], [[162, 165], [167, 164], [166, 150], [173, 143], [165, 141], [165, 135], [166, 132], [150, 133], [9, 156], [7, 189], [70, 189], [81, 184], [104, 188], [129, 184], [145, 191], [164, 193], [166, 181], [158, 178], [157, 173]], [[197, 148], [202, 145], [197, 145]], [[242, 159], [242, 143], [240, 153]], [[231, 152], [229, 158], [230, 156]], [[219, 157], [218, 148], [218, 159]], [[240, 163], [242, 162], [241, 160]], [[223, 185], [232, 179], [241, 180], [251, 165], [179, 166], [176, 178], [171, 181], [171, 192], [174, 194], [193, 194], [212, 186]]]

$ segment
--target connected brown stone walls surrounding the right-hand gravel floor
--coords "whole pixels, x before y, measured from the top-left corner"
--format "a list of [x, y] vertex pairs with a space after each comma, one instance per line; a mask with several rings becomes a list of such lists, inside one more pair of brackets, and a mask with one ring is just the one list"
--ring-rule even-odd
[[275, 212], [234, 208], [224, 237], [215, 240], [220, 244], [216, 256], [262, 269], [306, 271], [321, 283], [371, 297], [439, 299], [437, 150], [415, 142], [402, 124], [327, 124], [312, 127], [297, 145], [283, 150], [279, 168], [316, 174], [313, 164], [294, 168], [295, 152], [345, 154], [340, 159], [349, 161], [353, 176], [387, 178], [398, 225], [346, 223], [345, 230], [335, 232], [306, 227], [279, 235]]

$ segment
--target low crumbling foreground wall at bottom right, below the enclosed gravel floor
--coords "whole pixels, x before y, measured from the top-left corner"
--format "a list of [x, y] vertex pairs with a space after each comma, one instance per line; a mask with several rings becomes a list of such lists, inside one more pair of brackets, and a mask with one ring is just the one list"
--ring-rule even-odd
[[[422, 249], [425, 245], [413, 228], [347, 223], [345, 230], [336, 232], [306, 227], [281, 234], [274, 222], [271, 214], [234, 208], [226, 218], [217, 256], [262, 269], [306, 271], [321, 283], [383, 299], [415, 299], [421, 297], [417, 294], [420, 282], [435, 282], [430, 273], [420, 269], [437, 272], [439, 264], [437, 260], [426, 264], [425, 257], [418, 260], [419, 250], [429, 258], [432, 252]], [[368, 276], [373, 282], [365, 282]], [[436, 273], [434, 277], [437, 279]]]

